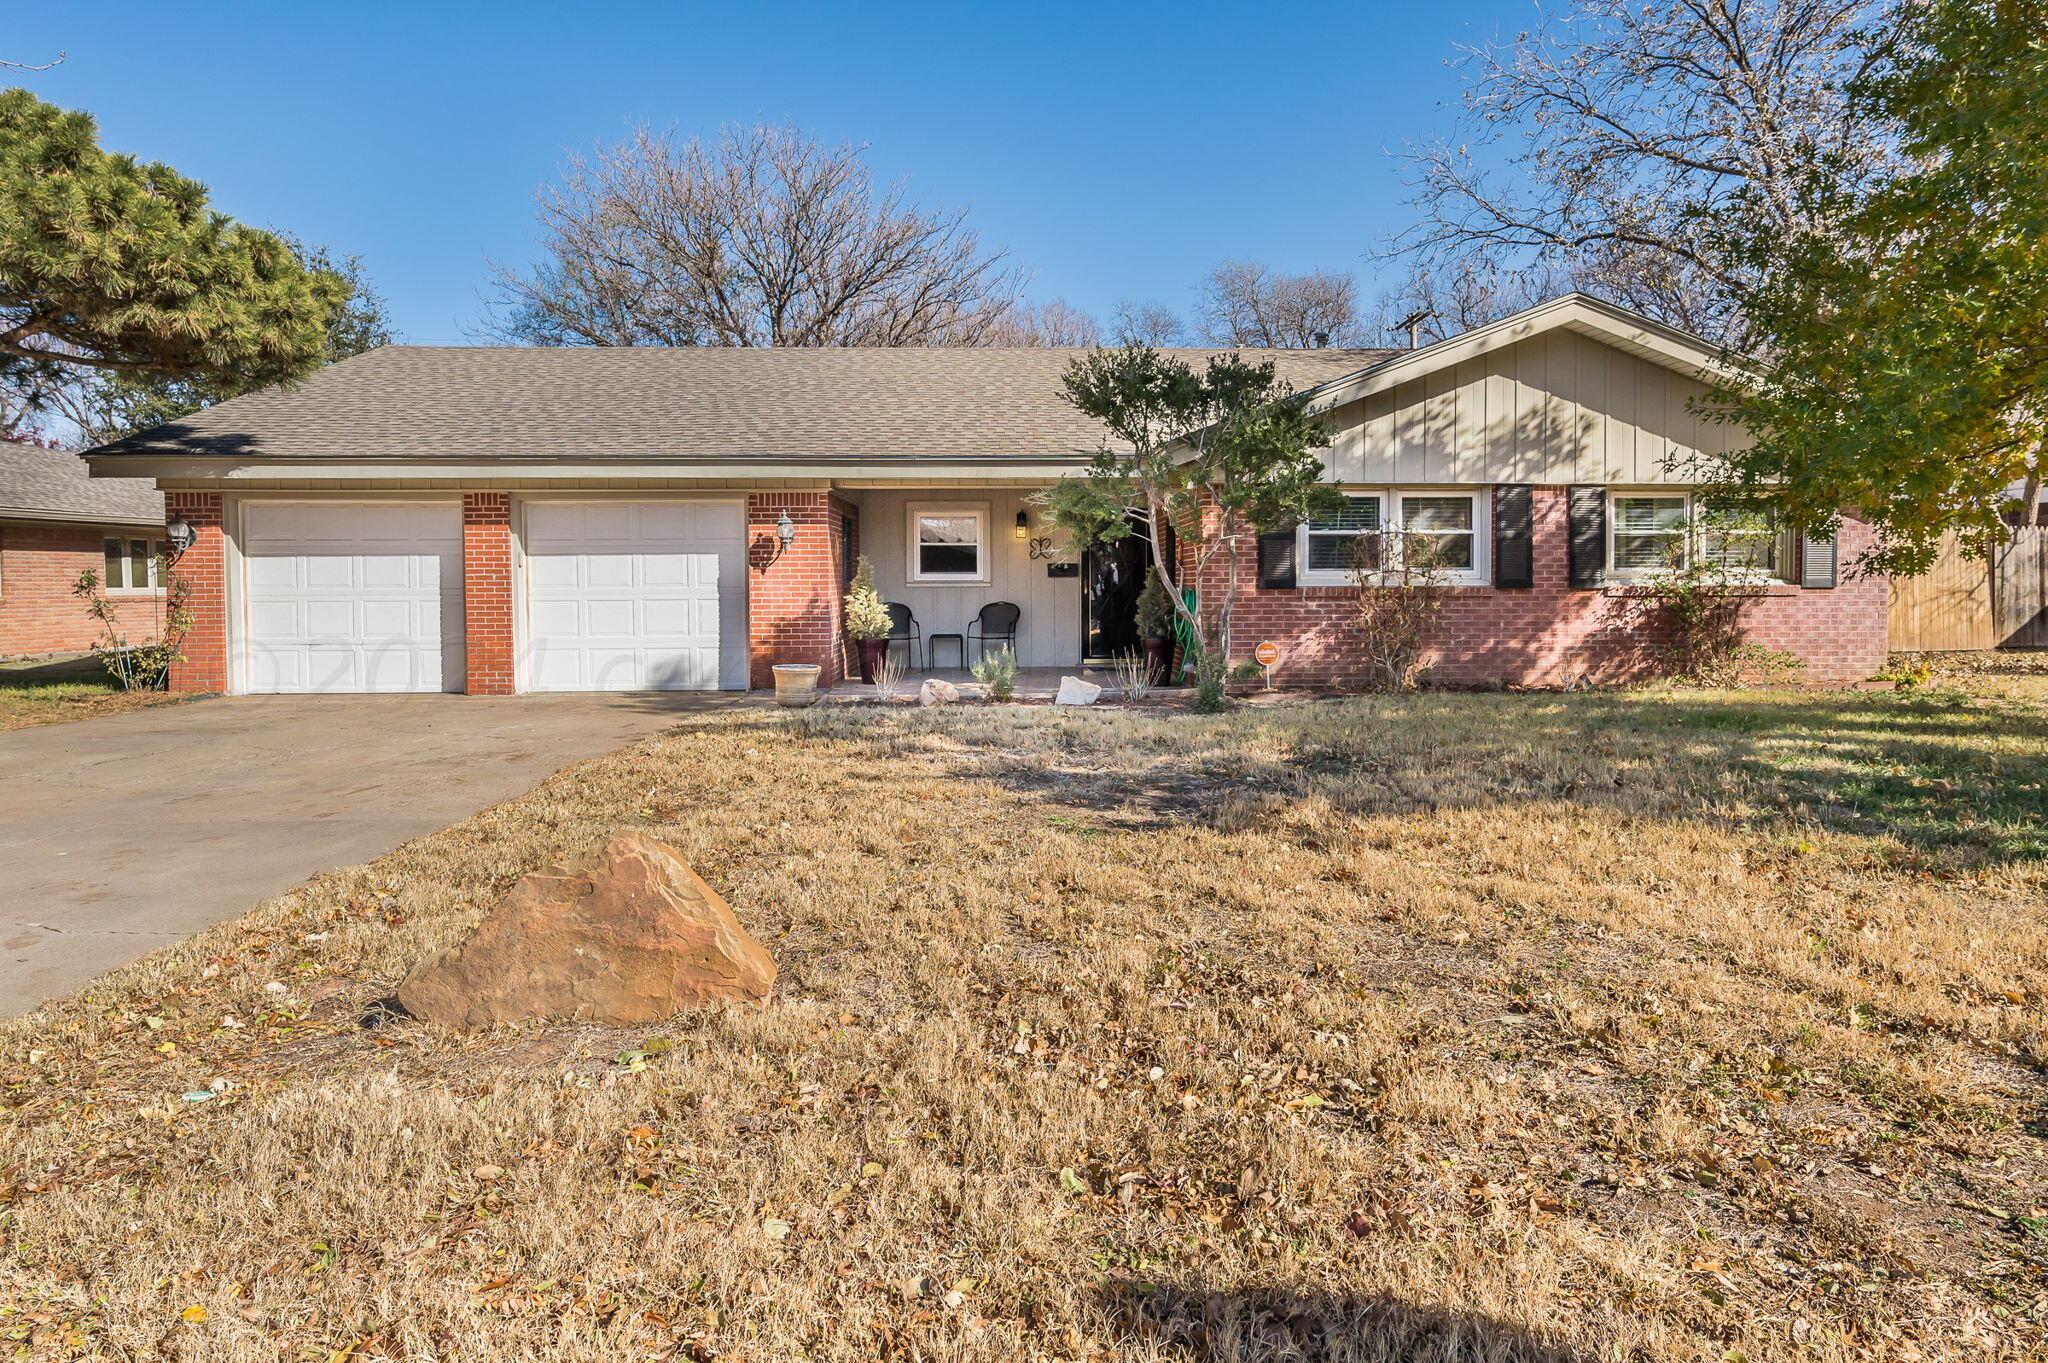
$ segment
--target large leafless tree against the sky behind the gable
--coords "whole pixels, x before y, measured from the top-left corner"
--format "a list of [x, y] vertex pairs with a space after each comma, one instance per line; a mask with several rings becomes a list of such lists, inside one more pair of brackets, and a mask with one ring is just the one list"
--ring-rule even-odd
[[1745, 284], [1696, 231], [1745, 186], [1786, 231], [1825, 227], [1808, 170], [1870, 174], [1892, 139], [1853, 82], [1901, 0], [1565, 0], [1466, 47], [1456, 139], [1407, 153], [1425, 266], [1563, 268], [1581, 287], [1739, 342]]

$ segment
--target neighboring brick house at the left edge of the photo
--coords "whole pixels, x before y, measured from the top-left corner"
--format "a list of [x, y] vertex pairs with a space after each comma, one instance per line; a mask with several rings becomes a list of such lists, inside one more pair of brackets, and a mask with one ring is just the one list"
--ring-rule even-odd
[[156, 639], [164, 497], [147, 483], [92, 481], [68, 450], [0, 442], [0, 657], [78, 653], [98, 622], [72, 593], [100, 573], [129, 643]]

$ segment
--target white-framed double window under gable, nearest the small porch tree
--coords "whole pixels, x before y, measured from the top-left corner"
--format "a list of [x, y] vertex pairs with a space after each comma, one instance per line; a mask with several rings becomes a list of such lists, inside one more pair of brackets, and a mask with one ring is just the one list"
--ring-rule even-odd
[[1403, 544], [1427, 544], [1446, 585], [1487, 583], [1485, 493], [1386, 489], [1348, 491], [1343, 510], [1303, 524], [1296, 538], [1300, 585], [1346, 587]]

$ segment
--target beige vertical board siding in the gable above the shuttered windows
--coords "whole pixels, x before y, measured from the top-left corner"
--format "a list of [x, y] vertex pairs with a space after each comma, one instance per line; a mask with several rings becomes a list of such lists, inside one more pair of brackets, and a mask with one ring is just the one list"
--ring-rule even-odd
[[1686, 465], [1731, 428], [1688, 401], [1704, 387], [1577, 332], [1544, 332], [1335, 407], [1339, 483], [1692, 483]]

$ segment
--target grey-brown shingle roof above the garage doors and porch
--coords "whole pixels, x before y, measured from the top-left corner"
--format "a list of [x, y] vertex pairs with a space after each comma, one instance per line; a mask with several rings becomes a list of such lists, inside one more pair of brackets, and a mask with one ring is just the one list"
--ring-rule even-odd
[[[1061, 399], [1079, 350], [385, 346], [94, 454], [252, 458], [1085, 456]], [[1206, 360], [1221, 350], [1174, 350]], [[1251, 350], [1296, 389], [1391, 350]]]

